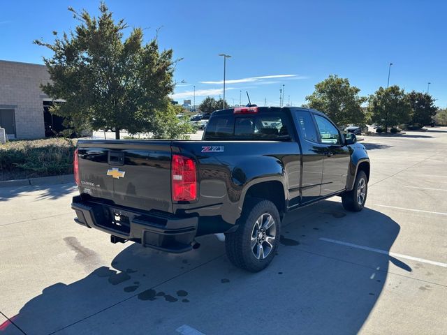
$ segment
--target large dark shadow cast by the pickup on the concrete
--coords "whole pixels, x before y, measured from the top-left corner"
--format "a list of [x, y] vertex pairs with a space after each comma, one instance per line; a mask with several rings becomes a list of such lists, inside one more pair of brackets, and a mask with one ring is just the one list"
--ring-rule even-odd
[[93, 270], [44, 288], [12, 322], [27, 334], [175, 334], [181, 325], [204, 334], [356, 334], [381, 295], [389, 262], [411, 268], [386, 253], [326, 240], [389, 251], [399, 231], [379, 211], [352, 214], [323, 201], [286, 218], [279, 255], [257, 274], [230, 265], [214, 236], [181, 255], [131, 244], [111, 266], [93, 246], [66, 237], [77, 252], [73, 262]]

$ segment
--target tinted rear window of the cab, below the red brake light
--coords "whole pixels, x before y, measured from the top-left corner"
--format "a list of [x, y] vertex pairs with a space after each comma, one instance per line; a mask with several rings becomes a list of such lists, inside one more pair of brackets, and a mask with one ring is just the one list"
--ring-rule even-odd
[[203, 140], [290, 140], [286, 114], [217, 115], [210, 119]]

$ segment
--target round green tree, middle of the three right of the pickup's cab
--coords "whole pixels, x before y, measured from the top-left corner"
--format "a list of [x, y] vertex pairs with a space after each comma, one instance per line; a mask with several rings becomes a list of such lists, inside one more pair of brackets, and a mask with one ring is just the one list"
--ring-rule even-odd
[[371, 121], [383, 126], [385, 132], [389, 127], [405, 124], [411, 120], [411, 104], [403, 89], [397, 85], [387, 89], [380, 87], [369, 96], [369, 113]]

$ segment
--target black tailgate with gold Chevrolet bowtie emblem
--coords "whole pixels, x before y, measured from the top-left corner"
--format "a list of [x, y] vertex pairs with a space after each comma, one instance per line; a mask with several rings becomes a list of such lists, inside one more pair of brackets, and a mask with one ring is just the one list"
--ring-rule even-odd
[[170, 141], [80, 140], [80, 191], [119, 206], [172, 212]]

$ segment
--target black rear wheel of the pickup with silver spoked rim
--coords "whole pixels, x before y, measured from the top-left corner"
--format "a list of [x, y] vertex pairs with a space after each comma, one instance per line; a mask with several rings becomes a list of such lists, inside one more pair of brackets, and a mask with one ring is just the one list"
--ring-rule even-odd
[[[256, 230], [260, 223], [258, 219], [268, 221], [269, 216], [274, 221], [272, 226], [266, 232], [263, 232], [262, 229], [261, 231], [259, 229]], [[227, 233], [225, 237], [228, 259], [236, 267], [247, 271], [258, 272], [265, 269], [272, 262], [279, 246], [281, 218], [279, 217], [277, 207], [269, 200], [247, 199], [242, 215], [237, 220], [237, 225], [239, 225], [237, 230]], [[266, 223], [265, 227], [267, 226], [268, 224]], [[273, 226], [274, 239], [272, 239]], [[254, 235], [256, 235], [256, 244], [252, 247]], [[261, 235], [264, 236], [265, 240], [260, 238]], [[262, 254], [259, 253], [261, 247], [258, 245], [262, 246]], [[271, 248], [270, 245], [272, 245]], [[266, 252], [268, 251], [268, 255], [265, 258], [261, 258], [261, 256], [264, 256], [264, 248]], [[258, 257], [255, 255], [255, 252], [258, 254]]]

